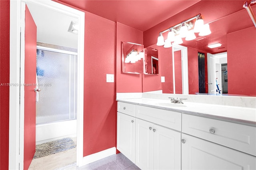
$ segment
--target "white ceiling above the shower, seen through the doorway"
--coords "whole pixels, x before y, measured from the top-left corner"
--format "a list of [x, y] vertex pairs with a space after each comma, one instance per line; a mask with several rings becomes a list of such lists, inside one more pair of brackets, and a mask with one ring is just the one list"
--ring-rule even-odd
[[26, 2], [37, 27], [37, 42], [77, 49], [78, 35], [68, 32], [71, 21], [77, 18], [65, 15], [33, 2]]

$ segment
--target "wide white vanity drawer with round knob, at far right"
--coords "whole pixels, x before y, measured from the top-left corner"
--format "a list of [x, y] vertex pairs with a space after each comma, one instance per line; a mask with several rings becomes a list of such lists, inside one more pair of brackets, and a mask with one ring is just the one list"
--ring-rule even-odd
[[256, 127], [182, 114], [182, 132], [256, 156]]

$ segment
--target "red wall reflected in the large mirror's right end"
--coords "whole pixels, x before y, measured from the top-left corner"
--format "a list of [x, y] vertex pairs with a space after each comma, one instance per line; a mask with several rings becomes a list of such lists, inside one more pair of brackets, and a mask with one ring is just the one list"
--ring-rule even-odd
[[228, 94], [256, 96], [256, 28], [227, 34]]

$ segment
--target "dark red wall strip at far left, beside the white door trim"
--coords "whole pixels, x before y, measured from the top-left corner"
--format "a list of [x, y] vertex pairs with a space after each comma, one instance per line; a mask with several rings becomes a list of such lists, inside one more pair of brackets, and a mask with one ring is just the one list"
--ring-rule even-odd
[[[10, 1], [0, 0], [0, 84], [10, 83]], [[9, 164], [9, 86], [0, 86], [0, 169]]]

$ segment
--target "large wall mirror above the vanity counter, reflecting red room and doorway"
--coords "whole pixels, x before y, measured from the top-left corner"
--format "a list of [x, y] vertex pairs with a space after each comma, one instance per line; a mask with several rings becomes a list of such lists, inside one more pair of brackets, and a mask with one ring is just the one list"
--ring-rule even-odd
[[[252, 6], [252, 10], [256, 10], [256, 5]], [[232, 22], [239, 17], [242, 17], [246, 22], [234, 26]], [[255, 85], [256, 81], [255, 48], [248, 48], [244, 44], [248, 46], [255, 43], [256, 28], [253, 26], [248, 13], [242, 9], [210, 22], [209, 26], [212, 34], [204, 37], [196, 34], [196, 39], [191, 41], [184, 39], [183, 43], [180, 44], [181, 46], [173, 45], [170, 47], [172, 51], [169, 53], [162, 52], [166, 51], [162, 46], [156, 47], [161, 59], [160, 73], [168, 71], [172, 74], [170, 79], [173, 78], [172, 81], [165, 82], [164, 86], [171, 87], [171, 90], [164, 93], [255, 96], [255, 87], [251, 85]], [[226, 32], [224, 32], [225, 30]], [[251, 38], [252, 36], [254, 38]], [[211, 43], [217, 42], [222, 45], [215, 48], [208, 47]], [[154, 44], [154, 46], [156, 45]], [[182, 49], [179, 48], [182, 46], [188, 47], [187, 61], [181, 57]], [[162, 59], [170, 57], [172, 60], [162, 61]], [[199, 77], [202, 73], [199, 70], [200, 58], [203, 59], [201, 64], [202, 71], [204, 71], [204, 75], [201, 77], [203, 91], [199, 91], [201, 88], [199, 87]], [[170, 66], [163, 68], [163, 62], [170, 62]], [[162, 88], [164, 88], [163, 83]], [[233, 90], [231, 91], [231, 89]], [[234, 89], [238, 89], [239, 92]]]

